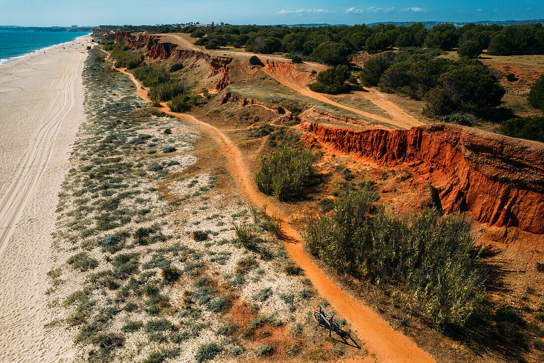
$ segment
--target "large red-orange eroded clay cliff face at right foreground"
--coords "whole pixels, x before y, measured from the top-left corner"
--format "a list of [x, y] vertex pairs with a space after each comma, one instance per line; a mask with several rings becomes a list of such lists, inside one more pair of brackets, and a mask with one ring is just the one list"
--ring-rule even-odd
[[446, 213], [544, 233], [544, 147], [458, 125], [410, 130], [301, 128], [335, 149], [384, 166], [405, 163], [436, 189]]

